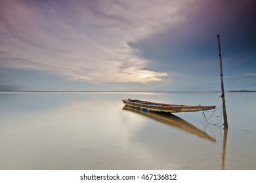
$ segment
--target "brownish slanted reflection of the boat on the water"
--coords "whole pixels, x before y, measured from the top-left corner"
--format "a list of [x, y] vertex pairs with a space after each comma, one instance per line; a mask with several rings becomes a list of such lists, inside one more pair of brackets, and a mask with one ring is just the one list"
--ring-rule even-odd
[[189, 124], [185, 120], [182, 120], [178, 116], [175, 116], [171, 113], [151, 112], [148, 110], [141, 110], [140, 108], [130, 107], [127, 105], [125, 105], [125, 107], [123, 107], [123, 110], [129, 110], [132, 112], [136, 112], [138, 114], [142, 114], [144, 116], [147, 116], [148, 118], [152, 118], [152, 119], [154, 119], [158, 122], [161, 122], [163, 124], [168, 124], [173, 127], [177, 127], [179, 129], [181, 129], [182, 131], [186, 131], [186, 132], [196, 135], [202, 139], [207, 139], [209, 141], [214, 141], [214, 142], [216, 141], [215, 139], [213, 139], [213, 137], [211, 137], [210, 135], [208, 135], [201, 129], [198, 129], [194, 125]]

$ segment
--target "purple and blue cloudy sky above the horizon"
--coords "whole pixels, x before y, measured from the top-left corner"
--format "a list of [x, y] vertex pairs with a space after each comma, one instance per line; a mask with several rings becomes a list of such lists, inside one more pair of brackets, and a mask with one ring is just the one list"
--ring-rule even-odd
[[256, 90], [255, 0], [0, 0], [0, 90]]

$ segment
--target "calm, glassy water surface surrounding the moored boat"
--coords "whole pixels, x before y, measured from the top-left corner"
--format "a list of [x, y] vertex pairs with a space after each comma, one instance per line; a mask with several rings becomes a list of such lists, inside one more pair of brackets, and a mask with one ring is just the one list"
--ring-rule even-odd
[[[256, 169], [256, 93], [1, 92], [0, 169]], [[160, 115], [121, 99], [216, 105]], [[220, 107], [220, 108], [219, 108]]]

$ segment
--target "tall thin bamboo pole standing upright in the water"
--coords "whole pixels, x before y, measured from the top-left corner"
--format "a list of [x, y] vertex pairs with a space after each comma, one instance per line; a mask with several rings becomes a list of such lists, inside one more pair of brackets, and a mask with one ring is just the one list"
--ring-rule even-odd
[[228, 118], [226, 116], [226, 103], [225, 103], [225, 94], [224, 94], [224, 84], [223, 84], [223, 61], [221, 59], [221, 41], [218, 37], [218, 46], [219, 46], [219, 63], [221, 67], [221, 97], [223, 99], [223, 118], [224, 118], [224, 128], [228, 128]]

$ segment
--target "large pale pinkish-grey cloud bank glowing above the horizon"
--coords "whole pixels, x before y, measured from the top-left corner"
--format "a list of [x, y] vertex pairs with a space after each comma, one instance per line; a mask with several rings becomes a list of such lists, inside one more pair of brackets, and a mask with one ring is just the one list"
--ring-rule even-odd
[[1, 1], [0, 67], [91, 82], [158, 82], [131, 46], [184, 20], [181, 1]]

